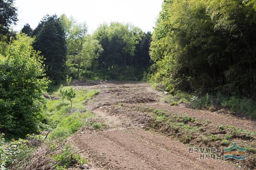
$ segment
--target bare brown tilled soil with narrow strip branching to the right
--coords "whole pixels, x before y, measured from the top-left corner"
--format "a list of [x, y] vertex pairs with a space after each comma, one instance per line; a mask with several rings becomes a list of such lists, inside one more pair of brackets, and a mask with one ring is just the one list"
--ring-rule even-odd
[[96, 133], [78, 133], [69, 139], [74, 147], [83, 150], [82, 155], [88, 159], [91, 169], [236, 169], [227, 161], [200, 160], [198, 154], [188, 152], [188, 145], [162, 133], [147, 131], [144, 128], [146, 113], [126, 108], [122, 103], [132, 107], [167, 109], [181, 115], [210, 119], [214, 123], [256, 129], [253, 121], [168, 106], [162, 102], [162, 93], [148, 84], [108, 83], [97, 85], [97, 88], [101, 92], [87, 102], [86, 107], [109, 128]]

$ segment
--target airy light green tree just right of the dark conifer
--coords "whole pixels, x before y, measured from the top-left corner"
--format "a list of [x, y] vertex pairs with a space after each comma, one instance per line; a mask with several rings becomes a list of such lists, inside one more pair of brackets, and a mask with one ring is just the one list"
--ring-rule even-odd
[[60, 20], [67, 35], [67, 64], [73, 66], [73, 68], [76, 67], [76, 78], [79, 80], [81, 69], [94, 70], [98, 56], [103, 49], [98, 40], [88, 35], [88, 28], [85, 22], [77, 23], [72, 17], [68, 18], [65, 14], [60, 16]]

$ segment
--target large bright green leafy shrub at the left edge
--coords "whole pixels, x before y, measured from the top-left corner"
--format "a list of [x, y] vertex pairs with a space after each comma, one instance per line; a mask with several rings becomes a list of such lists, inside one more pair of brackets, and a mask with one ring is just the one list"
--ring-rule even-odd
[[34, 39], [18, 34], [0, 57], [0, 131], [24, 137], [39, 130], [44, 119], [42, 93], [49, 84], [43, 59], [33, 50]]

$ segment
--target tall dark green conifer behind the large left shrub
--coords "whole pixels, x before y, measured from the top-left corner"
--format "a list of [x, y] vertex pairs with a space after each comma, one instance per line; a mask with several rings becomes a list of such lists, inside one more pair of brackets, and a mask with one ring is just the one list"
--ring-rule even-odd
[[41, 51], [45, 58], [46, 74], [52, 80], [63, 78], [65, 69], [67, 46], [66, 35], [60, 19], [56, 16], [43, 18], [32, 35], [36, 35], [34, 48]]

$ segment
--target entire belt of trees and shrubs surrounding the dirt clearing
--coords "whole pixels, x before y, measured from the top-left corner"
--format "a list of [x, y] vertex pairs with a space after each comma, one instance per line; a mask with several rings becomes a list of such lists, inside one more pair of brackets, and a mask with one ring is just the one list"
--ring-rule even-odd
[[65, 14], [14, 31], [17, 10], [0, 0], [0, 132], [8, 140], [45, 131], [52, 120], [43, 95], [71, 80], [146, 81], [168, 104], [256, 119], [256, 0], [164, 0], [152, 33], [116, 21], [89, 33]]

